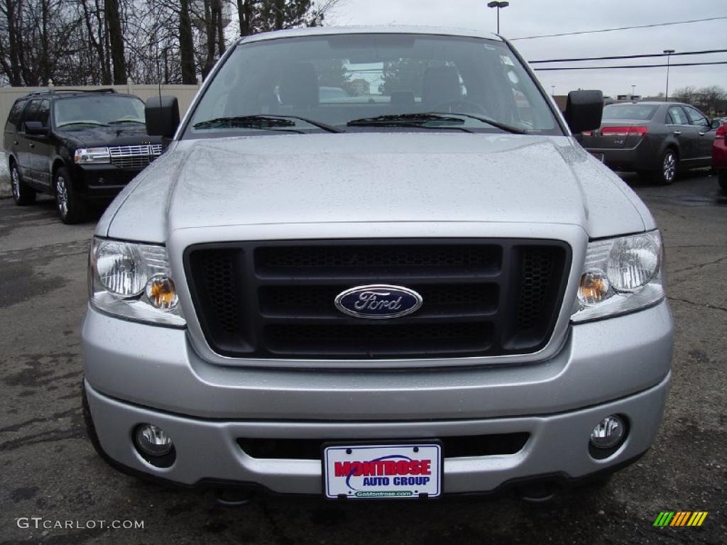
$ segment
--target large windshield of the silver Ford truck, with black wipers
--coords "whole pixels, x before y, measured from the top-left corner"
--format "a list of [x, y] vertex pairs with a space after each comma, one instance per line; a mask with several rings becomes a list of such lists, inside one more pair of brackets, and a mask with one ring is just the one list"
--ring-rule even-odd
[[[422, 113], [447, 115], [412, 116]], [[292, 124], [284, 130], [252, 116], [286, 116]], [[382, 122], [382, 116], [389, 117]], [[239, 44], [206, 89], [185, 137], [321, 132], [310, 121], [348, 132], [563, 134], [502, 41], [337, 34]]]

